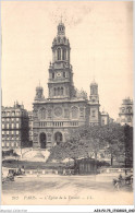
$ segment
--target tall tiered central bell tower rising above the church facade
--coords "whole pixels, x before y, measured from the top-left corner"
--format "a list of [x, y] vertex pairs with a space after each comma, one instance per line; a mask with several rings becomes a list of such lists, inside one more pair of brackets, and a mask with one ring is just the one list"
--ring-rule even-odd
[[49, 98], [61, 99], [73, 96], [73, 72], [70, 64], [70, 42], [65, 36], [62, 21], [58, 25], [58, 34], [52, 42], [52, 62], [49, 66]]

